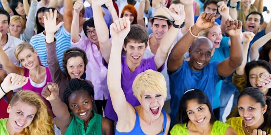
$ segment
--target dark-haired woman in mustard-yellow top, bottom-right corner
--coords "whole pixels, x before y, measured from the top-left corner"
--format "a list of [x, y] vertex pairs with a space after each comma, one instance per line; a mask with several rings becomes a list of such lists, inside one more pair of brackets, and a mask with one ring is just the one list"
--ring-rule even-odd
[[244, 89], [238, 97], [238, 112], [241, 117], [226, 121], [238, 134], [271, 134], [271, 97], [264, 96], [259, 88]]

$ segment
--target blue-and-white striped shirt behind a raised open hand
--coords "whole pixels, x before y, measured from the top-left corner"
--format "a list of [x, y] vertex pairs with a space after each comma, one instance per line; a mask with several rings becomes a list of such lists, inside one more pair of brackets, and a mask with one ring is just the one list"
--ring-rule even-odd
[[[44, 32], [41, 32], [37, 35], [32, 36], [32, 38], [30, 39], [30, 44], [33, 46], [35, 50], [37, 50], [42, 65], [48, 67], [46, 63], [47, 61], [47, 52], [45, 45], [46, 36], [43, 33]], [[65, 30], [64, 26], [61, 26], [60, 29], [56, 32], [55, 38], [56, 38], [56, 55], [59, 61], [59, 66], [61, 70], [63, 70], [62, 67], [63, 53], [65, 52], [66, 49], [72, 48], [71, 34]]]

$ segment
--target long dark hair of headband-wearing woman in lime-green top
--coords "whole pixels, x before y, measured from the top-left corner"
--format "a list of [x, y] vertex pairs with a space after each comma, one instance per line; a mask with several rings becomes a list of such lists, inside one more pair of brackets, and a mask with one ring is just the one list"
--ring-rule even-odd
[[190, 100], [196, 100], [198, 104], [206, 104], [211, 113], [210, 123], [213, 124], [216, 121], [215, 115], [212, 110], [212, 105], [207, 95], [200, 89], [189, 89], [188, 92], [186, 92], [181, 99], [179, 110], [177, 112], [177, 123], [184, 124], [189, 121], [186, 109], [187, 102]]

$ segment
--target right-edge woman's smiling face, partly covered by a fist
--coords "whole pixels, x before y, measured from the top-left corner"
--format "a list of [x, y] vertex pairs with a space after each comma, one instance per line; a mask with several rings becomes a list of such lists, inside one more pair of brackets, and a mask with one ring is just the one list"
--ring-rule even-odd
[[263, 68], [263, 67], [254, 67], [249, 71], [249, 83], [253, 87], [257, 87], [261, 90], [261, 92], [266, 95], [268, 93], [268, 88], [264, 88], [262, 86], [259, 86], [257, 81], [259, 78], [264, 75], [264, 74], [269, 74], [269, 72]]

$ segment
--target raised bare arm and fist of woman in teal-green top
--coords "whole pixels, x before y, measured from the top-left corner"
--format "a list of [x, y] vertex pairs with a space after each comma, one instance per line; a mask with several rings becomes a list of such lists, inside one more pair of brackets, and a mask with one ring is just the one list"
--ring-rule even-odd
[[72, 120], [72, 116], [67, 109], [67, 105], [61, 101], [58, 95], [59, 88], [56, 83], [48, 82], [42, 89], [42, 97], [48, 100], [52, 106], [52, 111], [55, 115], [55, 124], [64, 133]]

